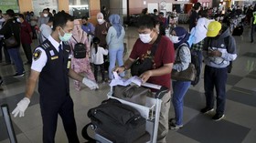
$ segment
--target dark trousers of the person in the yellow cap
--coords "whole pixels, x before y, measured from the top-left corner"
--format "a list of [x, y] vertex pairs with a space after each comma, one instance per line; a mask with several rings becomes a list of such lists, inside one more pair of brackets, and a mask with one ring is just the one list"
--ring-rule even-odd
[[214, 107], [214, 92], [213, 88], [216, 89], [217, 97], [217, 114], [224, 114], [225, 103], [226, 103], [226, 83], [228, 78], [227, 67], [216, 68], [211, 66], [205, 66], [204, 85], [205, 95], [207, 99], [207, 107]]

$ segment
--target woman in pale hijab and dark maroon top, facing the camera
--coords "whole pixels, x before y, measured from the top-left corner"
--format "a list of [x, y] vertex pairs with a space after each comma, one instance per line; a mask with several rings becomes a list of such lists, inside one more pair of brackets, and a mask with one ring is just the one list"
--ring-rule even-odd
[[[98, 24], [95, 26], [94, 36], [100, 38], [101, 43], [99, 46], [103, 48], [107, 48], [106, 36], [108, 34], [110, 24], [104, 20], [104, 16], [102, 13], [97, 14], [97, 22]], [[104, 67], [105, 67], [105, 71], [108, 71], [108, 68], [109, 68], [108, 56], [104, 56]]]

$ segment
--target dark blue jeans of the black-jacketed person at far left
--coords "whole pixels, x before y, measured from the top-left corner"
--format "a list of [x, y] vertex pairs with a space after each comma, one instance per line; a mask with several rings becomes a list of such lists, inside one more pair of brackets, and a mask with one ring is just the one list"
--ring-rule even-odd
[[16, 73], [22, 74], [24, 72], [24, 66], [23, 66], [23, 61], [22, 61], [20, 53], [19, 53], [19, 47], [7, 48], [7, 50], [16, 66]]

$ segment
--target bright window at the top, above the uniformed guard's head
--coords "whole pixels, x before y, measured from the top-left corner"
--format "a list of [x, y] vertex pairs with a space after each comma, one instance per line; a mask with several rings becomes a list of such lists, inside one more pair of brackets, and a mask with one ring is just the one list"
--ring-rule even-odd
[[75, 18], [90, 17], [89, 0], [69, 0], [69, 14]]

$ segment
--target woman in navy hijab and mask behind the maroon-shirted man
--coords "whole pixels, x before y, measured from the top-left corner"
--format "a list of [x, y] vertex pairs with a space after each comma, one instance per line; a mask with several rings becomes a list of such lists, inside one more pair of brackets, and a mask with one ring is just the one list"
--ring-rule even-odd
[[[176, 50], [176, 62], [173, 69], [178, 72], [186, 70], [191, 62], [190, 49], [187, 43], [189, 34], [185, 28], [176, 26], [170, 35], [171, 41], [174, 43]], [[170, 129], [178, 129], [183, 127], [183, 99], [187, 93], [188, 87], [190, 87], [190, 81], [178, 81], [173, 80], [173, 106], [175, 108], [175, 118], [169, 120]]]

